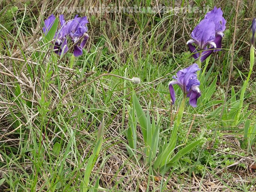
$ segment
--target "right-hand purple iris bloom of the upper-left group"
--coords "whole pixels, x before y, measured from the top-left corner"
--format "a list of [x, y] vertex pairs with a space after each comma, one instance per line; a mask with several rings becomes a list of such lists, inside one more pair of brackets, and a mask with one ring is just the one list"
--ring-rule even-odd
[[[86, 26], [88, 23], [89, 22], [87, 20], [87, 17], [78, 17], [78, 15], [76, 15], [73, 20], [67, 23], [69, 37], [71, 37], [73, 43], [76, 43], [76, 45], [74, 46], [74, 56], [76, 57], [83, 54], [82, 48], [84, 48], [89, 38], [89, 35], [87, 34], [88, 28]], [[78, 40], [82, 36], [84, 36], [84, 39], [80, 43], [78, 42]]]

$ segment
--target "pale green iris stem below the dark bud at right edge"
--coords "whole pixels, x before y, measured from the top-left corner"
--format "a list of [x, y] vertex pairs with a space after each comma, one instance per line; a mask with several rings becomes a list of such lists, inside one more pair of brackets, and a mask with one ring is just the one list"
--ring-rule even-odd
[[250, 79], [250, 77], [251, 77], [253, 64], [254, 64], [254, 47], [253, 47], [253, 45], [252, 45], [252, 46], [251, 46], [251, 49], [250, 49], [250, 69], [249, 69], [249, 73], [248, 73], [247, 79], [246, 79], [246, 81], [244, 82], [243, 87], [242, 87], [242, 90], [241, 90], [240, 99], [239, 99], [238, 112], [236, 113], [236, 116], [235, 116], [235, 125], [238, 124], [238, 120], [239, 120], [239, 117], [240, 117], [241, 112], [242, 112], [243, 101], [244, 101], [244, 93], [245, 93], [245, 91], [246, 91], [246, 88], [247, 88], [249, 79]]

